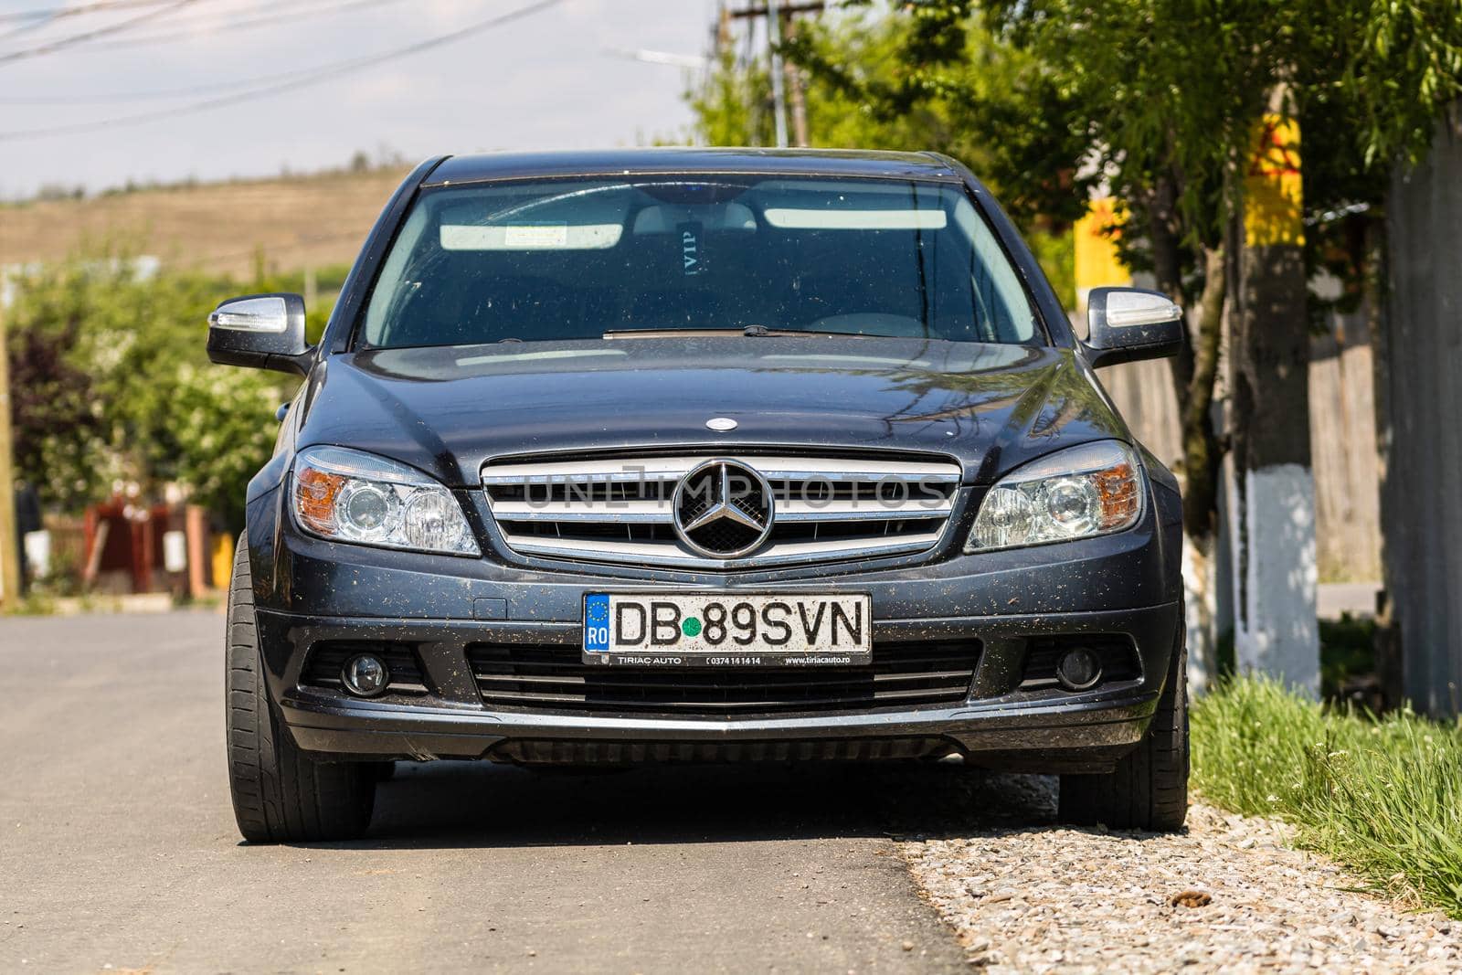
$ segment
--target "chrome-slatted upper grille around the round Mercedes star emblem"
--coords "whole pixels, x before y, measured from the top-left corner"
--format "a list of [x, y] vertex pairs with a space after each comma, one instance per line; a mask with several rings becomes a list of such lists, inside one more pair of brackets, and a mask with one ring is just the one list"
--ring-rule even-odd
[[[770, 490], [772, 528], [751, 551], [718, 557], [754, 542], [756, 532], [727, 519], [693, 534], [697, 551], [677, 532], [674, 510], [681, 479], [716, 459], [513, 460], [485, 466], [482, 488], [512, 551], [715, 570], [925, 551], [943, 535], [961, 477], [947, 460], [737, 452], [732, 466], [749, 468]], [[683, 504], [681, 522], [697, 510]]]

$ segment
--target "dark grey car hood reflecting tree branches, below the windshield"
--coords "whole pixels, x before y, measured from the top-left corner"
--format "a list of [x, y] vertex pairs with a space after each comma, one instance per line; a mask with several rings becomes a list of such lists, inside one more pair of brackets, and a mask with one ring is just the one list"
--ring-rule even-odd
[[370, 450], [455, 487], [513, 455], [751, 446], [937, 453], [988, 481], [1130, 439], [1069, 349], [861, 336], [373, 349], [323, 360], [303, 414], [301, 447]]

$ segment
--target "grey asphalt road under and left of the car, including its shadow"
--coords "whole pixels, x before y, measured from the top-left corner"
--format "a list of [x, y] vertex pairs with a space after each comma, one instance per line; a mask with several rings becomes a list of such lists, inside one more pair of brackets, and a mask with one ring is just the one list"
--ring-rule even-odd
[[222, 630], [0, 620], [0, 971], [968, 971], [890, 839], [958, 769], [404, 766], [367, 841], [246, 845]]

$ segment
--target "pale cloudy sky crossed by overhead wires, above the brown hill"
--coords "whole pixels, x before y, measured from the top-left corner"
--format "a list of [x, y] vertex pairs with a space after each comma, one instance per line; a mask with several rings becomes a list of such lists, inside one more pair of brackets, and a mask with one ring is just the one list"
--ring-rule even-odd
[[[363, 70], [189, 111], [535, 0], [104, 0], [117, 6], [12, 16], [95, 1], [0, 0], [0, 199], [47, 184], [98, 191], [129, 180], [301, 172], [344, 165], [357, 151], [414, 162], [684, 137], [690, 69], [616, 51], [705, 54], [716, 15], [716, 0], [558, 0]], [[127, 121], [145, 113], [165, 117]], [[64, 126], [88, 129], [26, 134]]]

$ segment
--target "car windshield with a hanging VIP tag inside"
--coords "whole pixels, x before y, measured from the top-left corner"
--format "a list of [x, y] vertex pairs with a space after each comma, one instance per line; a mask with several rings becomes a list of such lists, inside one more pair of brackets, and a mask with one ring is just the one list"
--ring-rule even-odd
[[1032, 342], [1032, 304], [959, 186], [636, 177], [433, 189], [392, 246], [364, 345], [639, 330]]

